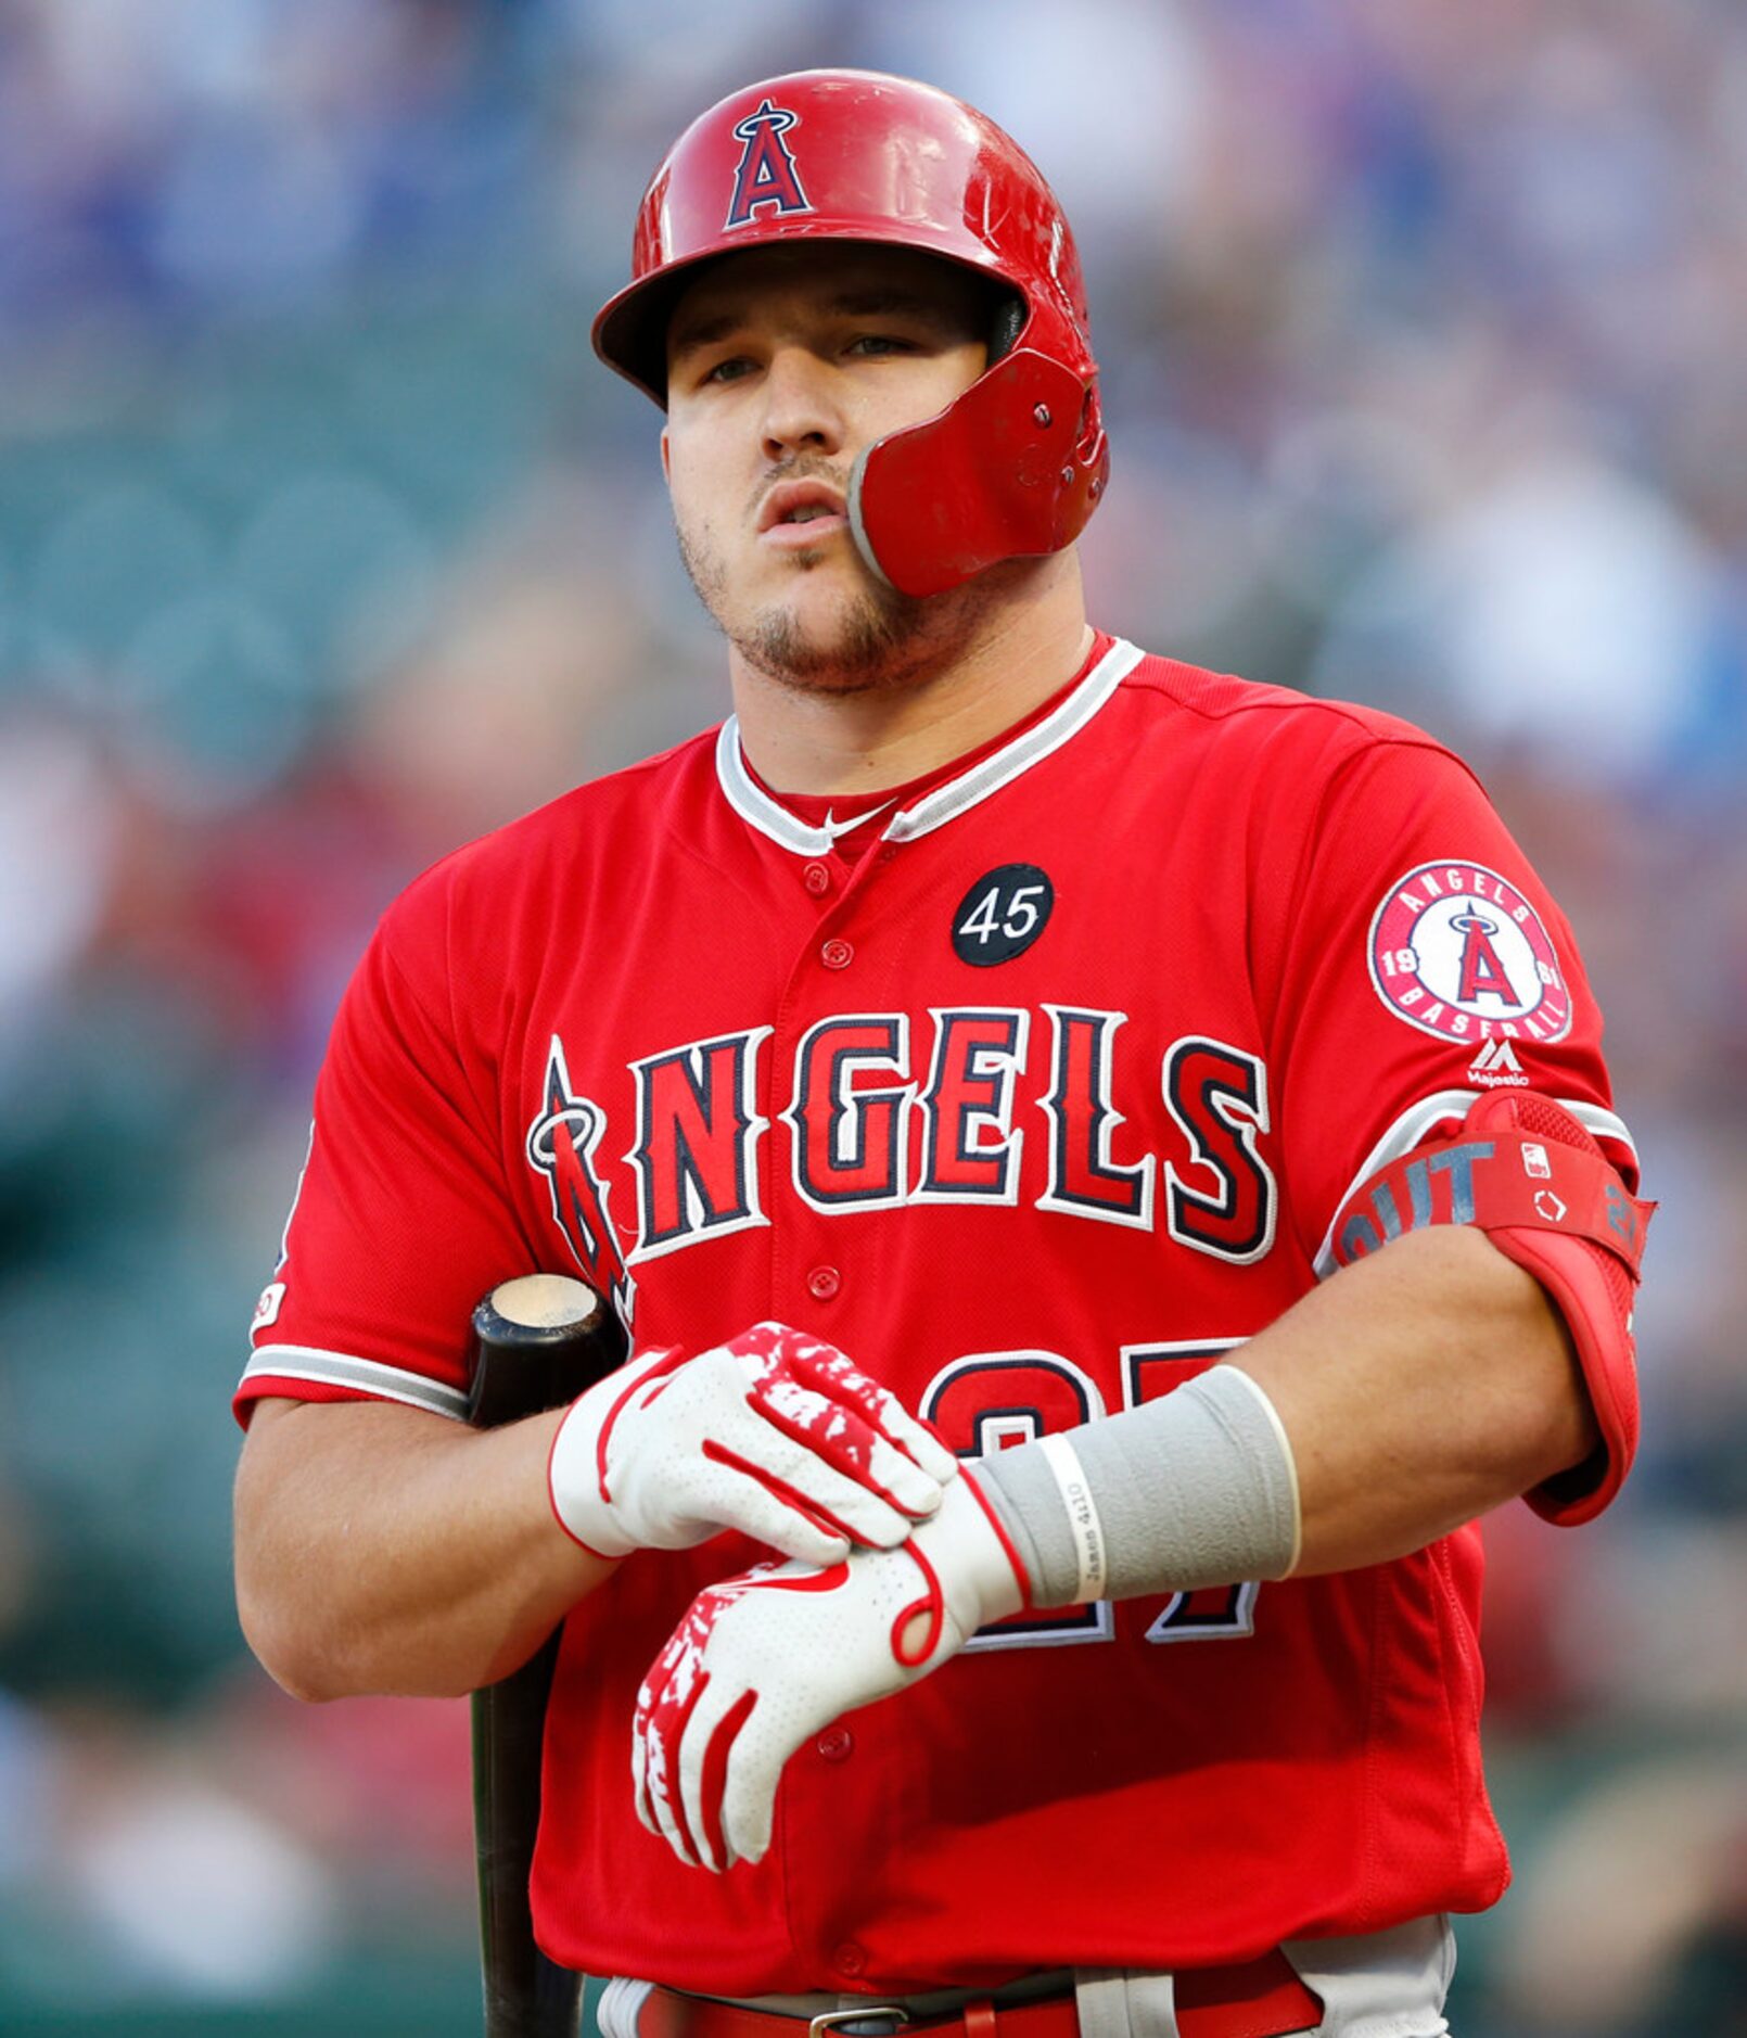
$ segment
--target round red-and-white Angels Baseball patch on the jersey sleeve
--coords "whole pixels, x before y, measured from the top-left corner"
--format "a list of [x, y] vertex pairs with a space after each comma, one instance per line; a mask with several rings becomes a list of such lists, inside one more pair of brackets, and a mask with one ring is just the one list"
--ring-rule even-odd
[[1439, 1039], [1564, 1039], [1572, 993], [1541, 915], [1484, 864], [1421, 864], [1372, 915], [1378, 997]]

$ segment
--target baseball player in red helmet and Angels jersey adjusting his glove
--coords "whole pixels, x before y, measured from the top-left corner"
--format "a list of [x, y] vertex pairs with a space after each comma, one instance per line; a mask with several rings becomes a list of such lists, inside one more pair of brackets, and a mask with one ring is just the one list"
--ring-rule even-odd
[[[563, 1620], [534, 1914], [612, 2038], [1445, 2030], [1480, 1533], [1635, 1443], [1647, 1204], [1572, 931], [1421, 732], [1087, 624], [1074, 243], [928, 86], [656, 173], [734, 713], [426, 872], [340, 1009], [239, 1410], [294, 1692]], [[471, 1304], [626, 1367], [489, 1435]]]

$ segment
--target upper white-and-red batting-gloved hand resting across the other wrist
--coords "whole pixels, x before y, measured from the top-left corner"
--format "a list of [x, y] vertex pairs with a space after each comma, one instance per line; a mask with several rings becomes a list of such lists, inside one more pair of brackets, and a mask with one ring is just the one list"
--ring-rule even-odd
[[552, 1512], [585, 1549], [689, 1549], [724, 1528], [805, 1563], [891, 1547], [958, 1459], [836, 1345], [758, 1323], [711, 1351], [644, 1351], [552, 1439]]

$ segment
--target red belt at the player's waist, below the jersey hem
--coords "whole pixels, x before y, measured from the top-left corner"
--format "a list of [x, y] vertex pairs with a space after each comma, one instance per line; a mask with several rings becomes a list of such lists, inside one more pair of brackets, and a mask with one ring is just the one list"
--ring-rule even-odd
[[[1184, 1967], [1174, 1977], [1176, 2028], [1182, 2038], [1282, 2038], [1313, 2032], [1321, 2001], [1299, 1981], [1284, 1952], [1235, 1967]], [[1042, 2003], [972, 2001], [944, 2018], [913, 2018], [897, 2003], [870, 1995], [854, 2009], [830, 2009], [809, 2020], [807, 2038], [836, 2038], [840, 2026], [895, 2022], [901, 2038], [1080, 2038], [1072, 1995]], [[707, 1995], [654, 1987], [636, 2020], [638, 2038], [799, 2038], [799, 2018], [748, 2009]], [[850, 2038], [850, 2034], [844, 2034]]]

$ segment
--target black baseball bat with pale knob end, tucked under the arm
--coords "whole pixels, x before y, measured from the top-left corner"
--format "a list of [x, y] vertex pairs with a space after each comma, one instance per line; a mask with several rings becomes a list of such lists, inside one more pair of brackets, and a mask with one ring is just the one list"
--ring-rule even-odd
[[[524, 1274], [473, 1310], [467, 1420], [518, 1423], [575, 1400], [626, 1353], [624, 1331], [579, 1280]], [[485, 2038], [577, 2038], [583, 1977], [534, 1944], [528, 1875], [540, 1824], [540, 1745], [563, 1626], [508, 1677], [473, 1694], [473, 1844]]]

